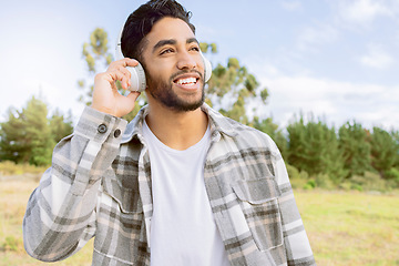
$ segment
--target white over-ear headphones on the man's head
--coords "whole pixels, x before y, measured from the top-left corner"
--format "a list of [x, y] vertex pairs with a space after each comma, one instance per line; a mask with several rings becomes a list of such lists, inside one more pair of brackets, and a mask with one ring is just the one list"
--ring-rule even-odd
[[[121, 38], [122, 38], [122, 31], [123, 31], [123, 27], [122, 30], [120, 31], [120, 34], [117, 37], [116, 40], [116, 45], [115, 45], [115, 58], [116, 60], [121, 60], [123, 59], [123, 53], [122, 53], [122, 48], [121, 48]], [[209, 60], [207, 60], [203, 53], [200, 51], [201, 57], [203, 59], [204, 62], [204, 80], [205, 82], [207, 82], [211, 79], [212, 75], [212, 64], [209, 62]], [[146, 81], [145, 81], [145, 72], [143, 66], [139, 63], [136, 66], [126, 66], [126, 69], [131, 72], [131, 83], [132, 85], [129, 88], [130, 91], [137, 91], [137, 92], [143, 92], [146, 88]]]

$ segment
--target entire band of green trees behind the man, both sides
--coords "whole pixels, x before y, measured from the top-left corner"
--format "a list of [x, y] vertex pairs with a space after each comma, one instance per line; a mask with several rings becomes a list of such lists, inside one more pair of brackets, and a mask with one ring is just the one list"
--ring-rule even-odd
[[[79, 80], [78, 85], [83, 92], [80, 101], [88, 105], [91, 104], [94, 73], [113, 60], [108, 42], [108, 33], [98, 28], [83, 44], [88, 76]], [[201, 50], [212, 55], [217, 52], [217, 45], [202, 42]], [[347, 188], [362, 190], [383, 184], [380, 186], [385, 188], [399, 187], [398, 131], [378, 126], [366, 129], [356, 121], [335, 127], [304, 115], [283, 131], [272, 117], [249, 117], [249, 104], [255, 102], [262, 109], [267, 104], [268, 91], [236, 58], [229, 58], [225, 64], [214, 64], [205, 94], [206, 103], [215, 110], [270, 135], [295, 186], [332, 188], [344, 184]], [[135, 110], [124, 119], [131, 120], [144, 104], [143, 94]], [[10, 109], [8, 121], [0, 126], [0, 160], [34, 165], [50, 164], [55, 143], [73, 130], [71, 115], [60, 111], [49, 115], [45, 103], [34, 96], [22, 111]]]

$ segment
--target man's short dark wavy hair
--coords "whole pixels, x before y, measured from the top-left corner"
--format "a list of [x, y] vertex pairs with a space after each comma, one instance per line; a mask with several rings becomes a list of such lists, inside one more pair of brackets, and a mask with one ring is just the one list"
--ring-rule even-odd
[[133, 11], [123, 28], [121, 49], [125, 58], [141, 60], [145, 45], [145, 35], [153, 25], [165, 17], [181, 19], [188, 24], [195, 34], [195, 27], [190, 22], [192, 13], [175, 0], [151, 0]]

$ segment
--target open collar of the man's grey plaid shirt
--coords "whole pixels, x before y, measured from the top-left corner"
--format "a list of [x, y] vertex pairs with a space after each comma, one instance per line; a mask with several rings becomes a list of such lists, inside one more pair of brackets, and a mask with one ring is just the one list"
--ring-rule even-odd
[[[233, 123], [236, 122], [223, 116], [221, 113], [209, 108], [206, 103], [201, 106], [201, 110], [208, 116], [211, 134], [213, 136], [218, 134], [225, 134], [228, 136], [237, 135], [237, 132], [233, 126]], [[145, 105], [139, 111], [137, 115], [127, 124], [126, 130], [122, 136], [122, 143], [127, 143], [132, 139], [139, 139], [142, 143], [144, 143], [143, 122], [147, 114], [149, 106]]]

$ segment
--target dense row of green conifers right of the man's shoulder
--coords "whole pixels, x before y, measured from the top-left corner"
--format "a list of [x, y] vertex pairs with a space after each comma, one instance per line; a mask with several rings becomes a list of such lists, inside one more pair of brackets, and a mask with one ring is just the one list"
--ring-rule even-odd
[[[259, 130], [267, 130], [255, 125]], [[399, 132], [364, 127], [348, 121], [339, 127], [301, 115], [272, 137], [288, 164], [291, 178], [300, 187], [395, 190], [399, 188]]]

